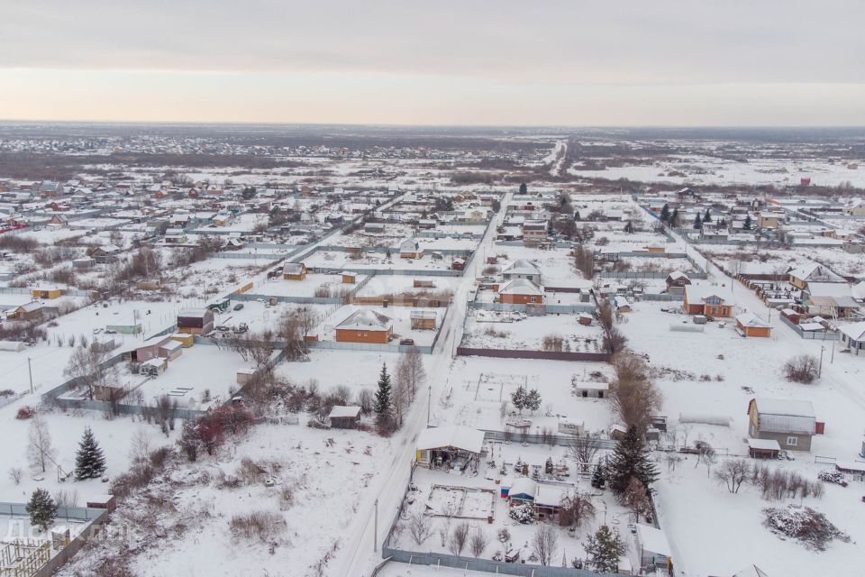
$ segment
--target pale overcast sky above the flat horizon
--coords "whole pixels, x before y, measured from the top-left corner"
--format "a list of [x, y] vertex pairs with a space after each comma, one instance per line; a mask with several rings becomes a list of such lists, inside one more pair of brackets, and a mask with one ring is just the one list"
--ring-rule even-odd
[[2, 0], [0, 118], [865, 125], [865, 1]]

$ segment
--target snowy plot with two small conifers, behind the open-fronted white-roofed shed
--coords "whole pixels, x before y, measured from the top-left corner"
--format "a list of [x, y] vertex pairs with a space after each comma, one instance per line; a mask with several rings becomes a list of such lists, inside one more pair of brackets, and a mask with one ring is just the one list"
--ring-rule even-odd
[[[536, 414], [523, 411], [522, 417], [531, 421], [530, 432], [557, 431], [560, 418], [567, 418], [584, 423], [588, 432], [605, 435], [616, 422], [612, 408], [605, 399], [576, 397], [571, 382], [596, 379], [593, 375], [604, 378], [609, 372], [609, 365], [596, 362], [458, 357], [444, 392], [432, 398], [431, 423], [504, 431], [514, 412], [511, 393], [523, 383], [542, 398]], [[508, 406], [503, 412], [504, 401]]]

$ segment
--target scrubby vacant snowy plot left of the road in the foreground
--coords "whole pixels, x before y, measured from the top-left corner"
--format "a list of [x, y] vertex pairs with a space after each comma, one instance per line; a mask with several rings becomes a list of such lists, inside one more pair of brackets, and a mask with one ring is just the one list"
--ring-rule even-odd
[[[120, 505], [114, 515], [139, 546], [99, 540], [59, 575], [92, 571], [106, 558], [153, 577], [202, 567], [225, 576], [306, 574], [319, 563], [326, 571], [353, 553], [342, 548], [345, 532], [373, 499], [369, 481], [392, 450], [389, 439], [359, 431], [256, 426], [213, 457], [172, 459], [141, 496]], [[260, 524], [244, 522], [253, 513]]]

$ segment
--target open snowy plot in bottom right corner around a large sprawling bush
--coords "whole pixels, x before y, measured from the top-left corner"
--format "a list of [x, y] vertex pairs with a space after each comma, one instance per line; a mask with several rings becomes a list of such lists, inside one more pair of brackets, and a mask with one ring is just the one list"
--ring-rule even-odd
[[[726, 457], [713, 471], [724, 465]], [[688, 457], [673, 470], [661, 461], [660, 480], [654, 485], [660, 526], [673, 548], [673, 562], [688, 575], [731, 575], [751, 563], [769, 575], [852, 574], [851, 567], [865, 563], [865, 517], [860, 497], [865, 485], [854, 481], [846, 489], [824, 483], [821, 499], [764, 500], [760, 490], [745, 483], [739, 493], [695, 468], [696, 457]], [[767, 463], [782, 471], [797, 472], [816, 481], [826, 465], [813, 463], [811, 455], [795, 462]], [[753, 460], [751, 460], [753, 462]], [[834, 540], [824, 552], [815, 552], [795, 539], [781, 540], [763, 526], [764, 508], [802, 504], [824, 513], [836, 527], [851, 537], [851, 543]], [[707, 519], [709, 522], [707, 522]], [[695, 531], [694, 527], [701, 527]], [[706, 554], [711, 551], [712, 554]]]

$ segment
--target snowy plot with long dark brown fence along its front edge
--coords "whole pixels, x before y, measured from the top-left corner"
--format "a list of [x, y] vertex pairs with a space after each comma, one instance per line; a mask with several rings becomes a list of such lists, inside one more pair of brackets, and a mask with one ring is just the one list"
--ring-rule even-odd
[[490, 319], [487, 312], [471, 311], [466, 318], [462, 346], [520, 351], [600, 352], [604, 338], [600, 326], [580, 325], [576, 315], [512, 315], [505, 316], [499, 322]]

